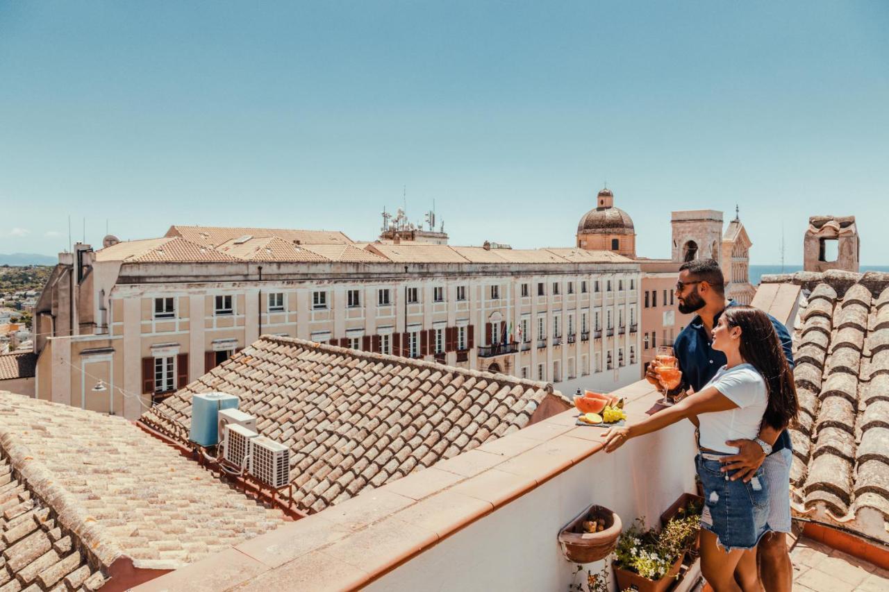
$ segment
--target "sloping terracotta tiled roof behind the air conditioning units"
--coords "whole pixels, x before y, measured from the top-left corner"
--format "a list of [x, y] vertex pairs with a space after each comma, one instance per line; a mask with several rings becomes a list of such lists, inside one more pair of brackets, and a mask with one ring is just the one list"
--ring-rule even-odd
[[[567, 409], [552, 385], [404, 357], [264, 336], [160, 412], [188, 426], [195, 393], [223, 391], [291, 449], [293, 501], [314, 513]], [[151, 409], [141, 421], [185, 443]]]

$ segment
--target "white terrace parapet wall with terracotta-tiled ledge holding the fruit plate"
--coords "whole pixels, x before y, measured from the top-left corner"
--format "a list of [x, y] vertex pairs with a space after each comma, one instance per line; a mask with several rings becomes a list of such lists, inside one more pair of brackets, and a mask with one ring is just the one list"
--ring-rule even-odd
[[[644, 418], [659, 397], [646, 381], [613, 394], [626, 397], [630, 421]], [[576, 426], [575, 415], [558, 413], [367, 488], [144, 588], [200, 581], [256, 590], [380, 592], [428, 589], [429, 582], [443, 590], [569, 589], [576, 565], [557, 542], [565, 524], [596, 503], [625, 527], [637, 516], [655, 525], [681, 493], [694, 491], [696, 452], [691, 424], [680, 422], [606, 455], [602, 430]], [[517, 560], [523, 557], [533, 560]], [[603, 565], [585, 565], [581, 576]]]

